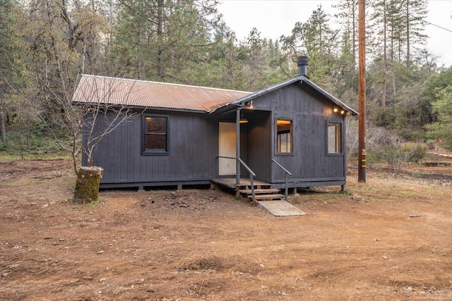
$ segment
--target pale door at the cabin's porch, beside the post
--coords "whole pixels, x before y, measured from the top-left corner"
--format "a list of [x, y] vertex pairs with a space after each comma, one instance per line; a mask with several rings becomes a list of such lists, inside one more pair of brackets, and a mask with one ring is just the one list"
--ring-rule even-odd
[[[236, 171], [236, 128], [235, 123], [220, 122], [218, 127], [218, 176], [232, 176]], [[234, 159], [222, 158], [230, 157]]]

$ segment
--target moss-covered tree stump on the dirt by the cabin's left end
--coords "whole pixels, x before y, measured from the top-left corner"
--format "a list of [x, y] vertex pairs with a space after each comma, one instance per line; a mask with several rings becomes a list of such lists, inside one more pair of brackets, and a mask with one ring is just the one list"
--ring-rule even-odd
[[99, 199], [100, 178], [104, 168], [97, 166], [82, 166], [78, 169], [76, 192], [73, 200], [76, 203], [88, 204]]

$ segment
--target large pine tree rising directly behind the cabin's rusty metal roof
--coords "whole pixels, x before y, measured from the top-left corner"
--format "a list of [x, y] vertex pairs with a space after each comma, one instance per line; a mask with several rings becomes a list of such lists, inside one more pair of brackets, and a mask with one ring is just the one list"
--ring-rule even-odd
[[208, 0], [120, 0], [117, 16], [112, 59], [127, 77], [185, 83], [206, 61], [218, 23]]

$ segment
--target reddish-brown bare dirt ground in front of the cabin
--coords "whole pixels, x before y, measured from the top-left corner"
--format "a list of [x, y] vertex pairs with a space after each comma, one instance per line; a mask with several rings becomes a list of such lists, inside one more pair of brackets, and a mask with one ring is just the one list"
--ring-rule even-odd
[[215, 190], [75, 205], [71, 161], [0, 161], [0, 300], [452, 300], [452, 168], [349, 173], [275, 217]]

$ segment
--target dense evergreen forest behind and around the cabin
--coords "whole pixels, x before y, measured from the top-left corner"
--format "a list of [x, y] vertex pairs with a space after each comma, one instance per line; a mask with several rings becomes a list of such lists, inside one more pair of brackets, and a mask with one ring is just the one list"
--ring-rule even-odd
[[[333, 16], [318, 6], [277, 40], [258, 28], [237, 39], [218, 6], [0, 0], [0, 154], [77, 154], [71, 137], [81, 125], [70, 116], [81, 74], [254, 92], [297, 75], [303, 55], [311, 80], [357, 109], [356, 0], [340, 1]], [[417, 160], [419, 145], [452, 150], [452, 67], [438, 66], [427, 51], [427, 13], [427, 0], [367, 1], [367, 147], [374, 159], [408, 148]], [[357, 120], [348, 123], [353, 158]]]

